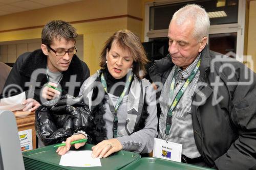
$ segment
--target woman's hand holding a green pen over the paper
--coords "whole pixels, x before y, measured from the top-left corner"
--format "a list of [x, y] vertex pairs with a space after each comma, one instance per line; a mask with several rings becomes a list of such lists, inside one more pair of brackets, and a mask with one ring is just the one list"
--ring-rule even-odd
[[[85, 139], [85, 138], [86, 138], [86, 136], [84, 136], [84, 135], [82, 135], [82, 134], [73, 135], [73, 136], [67, 138], [67, 140], [66, 140], [66, 146], [59, 147], [56, 152], [58, 153], [58, 155], [64, 155], [64, 154], [66, 154], [67, 151], [69, 151], [69, 149], [70, 149], [70, 147], [71, 147], [71, 144], [70, 144], [70, 143], [71, 143], [72, 141], [80, 140], [80, 139]], [[82, 147], [84, 144], [86, 144], [86, 142], [83, 142], [83, 143], [75, 143], [74, 146], [75, 146], [76, 149], [78, 149], [78, 148]]]

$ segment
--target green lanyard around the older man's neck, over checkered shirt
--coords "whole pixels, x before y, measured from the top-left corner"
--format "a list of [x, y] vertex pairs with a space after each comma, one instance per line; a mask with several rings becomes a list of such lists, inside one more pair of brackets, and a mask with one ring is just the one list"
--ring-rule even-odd
[[[186, 91], [188, 85], [191, 83], [193, 78], [196, 76], [196, 74], [199, 70], [200, 63], [201, 63], [201, 58], [199, 59], [197, 65], [194, 67], [194, 70], [191, 72], [189, 77], [186, 79], [185, 83], [183, 84], [182, 88], [179, 90], [178, 94], [175, 96], [175, 99], [173, 100], [173, 103], [169, 106], [167, 119], [166, 119], [166, 124], [165, 124], [166, 125], [166, 129], [165, 129], [165, 134], [166, 135], [169, 135], [169, 130], [170, 130], [170, 127], [172, 126], [173, 111], [176, 108], [177, 104], [179, 103], [182, 95]], [[169, 98], [170, 99], [172, 99], [173, 95], [174, 95], [175, 81], [176, 81], [177, 73], [178, 73], [178, 70], [177, 70], [177, 67], [176, 67], [175, 71], [174, 71], [174, 76], [173, 76], [172, 83], [170, 84], [170, 93], [169, 93]]]

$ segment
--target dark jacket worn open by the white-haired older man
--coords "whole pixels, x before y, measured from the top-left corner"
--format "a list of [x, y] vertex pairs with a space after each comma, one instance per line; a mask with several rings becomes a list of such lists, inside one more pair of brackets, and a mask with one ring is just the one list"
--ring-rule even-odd
[[[164, 84], [173, 66], [169, 55], [155, 61], [150, 68], [153, 82]], [[210, 167], [256, 169], [256, 82], [253, 80], [256, 80], [254, 72], [242, 63], [205, 46], [193, 96], [198, 104], [193, 104], [191, 115], [197, 148]]]

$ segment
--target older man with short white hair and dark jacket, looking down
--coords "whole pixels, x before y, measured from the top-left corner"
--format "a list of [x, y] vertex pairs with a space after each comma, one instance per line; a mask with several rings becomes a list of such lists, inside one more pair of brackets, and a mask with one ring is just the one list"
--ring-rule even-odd
[[[170, 21], [169, 55], [150, 68], [153, 82], [163, 84], [155, 145], [167, 146], [172, 156], [190, 164], [256, 169], [255, 74], [209, 50], [209, 26], [206, 11], [195, 4]], [[181, 156], [174, 152], [179, 149]]]

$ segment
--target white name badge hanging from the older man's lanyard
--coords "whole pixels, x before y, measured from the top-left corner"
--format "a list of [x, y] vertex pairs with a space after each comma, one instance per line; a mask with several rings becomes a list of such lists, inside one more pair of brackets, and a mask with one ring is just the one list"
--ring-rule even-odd
[[181, 162], [182, 144], [155, 138], [153, 157]]

